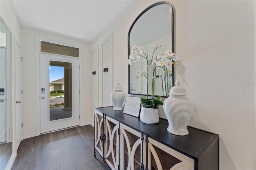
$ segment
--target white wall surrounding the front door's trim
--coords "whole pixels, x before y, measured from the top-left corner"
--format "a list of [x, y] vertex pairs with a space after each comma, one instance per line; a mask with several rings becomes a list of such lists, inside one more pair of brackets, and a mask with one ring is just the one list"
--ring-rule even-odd
[[57, 36], [46, 32], [22, 27], [22, 46], [23, 46], [23, 97], [24, 97], [24, 138], [36, 136], [36, 36], [54, 42], [60, 42], [82, 47], [82, 125], [90, 124], [90, 44], [63, 36]]

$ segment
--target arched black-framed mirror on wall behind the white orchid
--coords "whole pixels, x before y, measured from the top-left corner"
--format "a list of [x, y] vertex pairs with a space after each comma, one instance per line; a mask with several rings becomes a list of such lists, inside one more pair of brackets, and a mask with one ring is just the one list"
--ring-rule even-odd
[[[148, 60], [152, 60], [152, 56], [155, 57], [167, 50], [174, 52], [173, 23], [173, 10], [170, 3], [157, 2], [146, 8], [134, 20], [128, 32], [128, 59], [134, 45], [144, 47], [145, 53], [148, 54]], [[161, 47], [154, 51], [154, 46], [152, 46], [154, 44], [161, 45]], [[138, 71], [147, 71], [146, 62], [144, 59], [138, 59], [132, 63], [132, 67], [128, 65], [129, 94], [146, 95], [147, 80], [144, 76], [138, 77]], [[157, 71], [155, 95], [166, 97], [174, 85], [174, 65], [171, 65], [167, 72], [161, 68]], [[152, 73], [153, 66], [150, 67], [149, 65], [148, 75], [152, 75]], [[152, 79], [148, 79], [148, 81], [148, 95], [151, 95]]]

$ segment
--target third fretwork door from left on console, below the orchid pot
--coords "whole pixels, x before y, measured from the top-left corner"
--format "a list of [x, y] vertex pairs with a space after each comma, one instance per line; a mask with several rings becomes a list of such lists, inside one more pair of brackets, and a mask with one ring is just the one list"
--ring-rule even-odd
[[140, 165], [144, 162], [141, 135], [120, 123], [120, 170], [140, 170]]

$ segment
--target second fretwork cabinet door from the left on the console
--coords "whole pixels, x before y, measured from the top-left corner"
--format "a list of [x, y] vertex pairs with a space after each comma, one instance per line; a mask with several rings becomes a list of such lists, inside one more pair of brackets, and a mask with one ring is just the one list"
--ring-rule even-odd
[[106, 116], [105, 119], [105, 161], [112, 170], [118, 170], [119, 165], [119, 122]]

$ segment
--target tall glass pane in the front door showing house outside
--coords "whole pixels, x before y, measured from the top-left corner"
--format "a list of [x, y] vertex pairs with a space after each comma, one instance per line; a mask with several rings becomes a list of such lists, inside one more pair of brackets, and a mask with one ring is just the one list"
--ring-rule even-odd
[[50, 121], [72, 117], [72, 63], [51, 61], [49, 66]]

